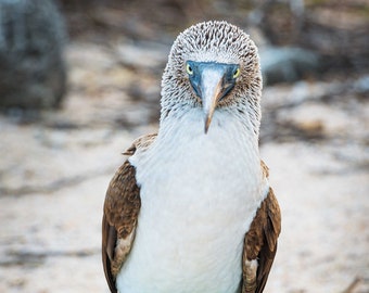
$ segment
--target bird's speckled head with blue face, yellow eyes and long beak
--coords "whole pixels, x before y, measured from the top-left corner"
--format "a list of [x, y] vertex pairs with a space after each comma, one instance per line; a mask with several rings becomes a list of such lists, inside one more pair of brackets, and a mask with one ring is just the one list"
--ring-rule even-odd
[[202, 107], [205, 133], [218, 109], [250, 122], [258, 135], [262, 74], [257, 48], [226, 22], [191, 26], [174, 42], [162, 80], [162, 120], [183, 105]]

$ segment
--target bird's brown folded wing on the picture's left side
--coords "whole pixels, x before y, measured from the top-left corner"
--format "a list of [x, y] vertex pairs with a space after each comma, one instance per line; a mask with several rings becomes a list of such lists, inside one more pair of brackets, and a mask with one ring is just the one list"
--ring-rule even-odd
[[[138, 149], [144, 151], [155, 137], [150, 135], [136, 140], [125, 154], [132, 155]], [[117, 292], [115, 278], [135, 240], [140, 206], [136, 169], [127, 160], [109, 184], [102, 218], [102, 263], [112, 293]]]

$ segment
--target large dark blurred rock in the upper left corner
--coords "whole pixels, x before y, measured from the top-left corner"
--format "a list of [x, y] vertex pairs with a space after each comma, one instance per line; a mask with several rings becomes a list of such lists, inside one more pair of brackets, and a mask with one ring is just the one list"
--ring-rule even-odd
[[49, 0], [0, 0], [0, 107], [59, 106], [66, 31]]

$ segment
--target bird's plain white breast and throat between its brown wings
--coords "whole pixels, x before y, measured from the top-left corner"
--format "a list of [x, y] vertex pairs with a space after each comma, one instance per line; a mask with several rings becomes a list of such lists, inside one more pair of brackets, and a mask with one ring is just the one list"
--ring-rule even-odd
[[130, 158], [142, 205], [120, 292], [239, 288], [244, 234], [264, 196], [257, 142], [229, 113], [217, 112], [207, 135], [203, 124], [193, 110]]

